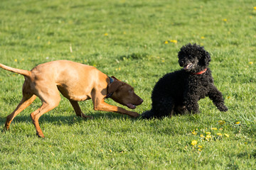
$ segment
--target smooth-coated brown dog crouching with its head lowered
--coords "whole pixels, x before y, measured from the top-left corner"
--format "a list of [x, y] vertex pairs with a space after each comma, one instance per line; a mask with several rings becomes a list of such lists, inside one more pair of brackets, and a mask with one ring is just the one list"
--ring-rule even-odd
[[23, 98], [13, 113], [7, 116], [5, 128], [9, 130], [14, 117], [28, 107], [36, 96], [41, 99], [42, 106], [31, 113], [33, 125], [36, 127], [36, 134], [44, 137], [39, 126], [38, 119], [60, 102], [60, 91], [65, 98], [68, 98], [75, 110], [75, 114], [82, 118], [90, 118], [82, 113], [78, 101], [92, 99], [95, 111], [110, 111], [126, 114], [136, 118], [139, 114], [127, 111], [124, 108], [112, 106], [105, 103], [105, 98], [112, 98], [128, 108], [136, 108], [143, 100], [134, 93], [129, 84], [119, 81], [115, 77], [107, 77], [98, 69], [85, 64], [58, 60], [39, 64], [31, 69], [15, 69], [0, 64], [2, 69], [22, 74], [25, 81], [22, 88]]

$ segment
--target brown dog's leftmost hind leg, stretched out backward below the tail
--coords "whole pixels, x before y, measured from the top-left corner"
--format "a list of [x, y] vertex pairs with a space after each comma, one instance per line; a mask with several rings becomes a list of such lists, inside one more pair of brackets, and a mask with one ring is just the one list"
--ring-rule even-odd
[[25, 94], [23, 95], [23, 98], [21, 99], [21, 102], [18, 104], [16, 109], [13, 113], [7, 116], [5, 128], [6, 130], [9, 130], [11, 121], [14, 120], [15, 116], [18, 115], [18, 113], [21, 113], [26, 107], [30, 106], [31, 103], [36, 99], [36, 95], [33, 94]]

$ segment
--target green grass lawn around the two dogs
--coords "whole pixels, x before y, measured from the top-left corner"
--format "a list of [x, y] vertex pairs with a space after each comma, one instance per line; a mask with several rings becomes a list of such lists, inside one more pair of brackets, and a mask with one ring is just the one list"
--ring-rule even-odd
[[[62, 98], [40, 118], [46, 136], [41, 139], [29, 116], [41, 106], [37, 99], [16, 116], [9, 132], [1, 132], [0, 169], [256, 169], [254, 6], [252, 0], [1, 0], [3, 64], [93, 65], [134, 86], [144, 99], [135, 111], [142, 113], [151, 108], [156, 81], [180, 69], [179, 48], [196, 42], [211, 54], [215, 85], [229, 111], [221, 113], [205, 98], [198, 115], [138, 120], [93, 111], [92, 102], [84, 101], [82, 111], [94, 119], [82, 120]], [[22, 76], [0, 70], [2, 130], [21, 100], [22, 83]], [[206, 132], [209, 140], [201, 137]], [[198, 144], [192, 146], [192, 140]]]

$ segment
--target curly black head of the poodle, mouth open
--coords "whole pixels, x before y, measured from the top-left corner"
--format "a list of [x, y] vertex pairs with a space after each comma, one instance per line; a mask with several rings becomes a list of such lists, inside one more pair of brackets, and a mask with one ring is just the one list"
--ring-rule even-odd
[[178, 64], [186, 72], [201, 72], [208, 67], [210, 54], [203, 47], [196, 44], [187, 44], [178, 52]]

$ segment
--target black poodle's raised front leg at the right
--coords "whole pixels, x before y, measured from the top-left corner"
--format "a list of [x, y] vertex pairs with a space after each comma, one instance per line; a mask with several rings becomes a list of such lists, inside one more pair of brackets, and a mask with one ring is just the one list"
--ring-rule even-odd
[[212, 86], [210, 89], [208, 97], [213, 101], [218, 110], [224, 112], [228, 111], [228, 108], [224, 104], [223, 95], [215, 86]]

